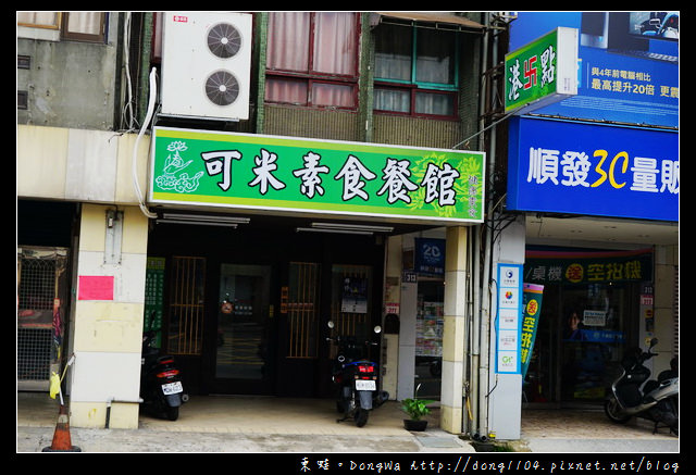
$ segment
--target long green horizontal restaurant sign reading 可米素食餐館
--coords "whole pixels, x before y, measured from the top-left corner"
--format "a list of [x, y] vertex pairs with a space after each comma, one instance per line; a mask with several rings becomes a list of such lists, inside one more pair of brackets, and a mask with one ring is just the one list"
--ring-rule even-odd
[[156, 127], [149, 201], [483, 221], [485, 153]]

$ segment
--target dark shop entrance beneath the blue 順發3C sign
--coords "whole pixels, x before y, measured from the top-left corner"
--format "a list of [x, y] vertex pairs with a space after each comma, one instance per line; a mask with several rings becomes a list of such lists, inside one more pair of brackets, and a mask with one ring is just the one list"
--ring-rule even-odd
[[525, 278], [544, 292], [523, 400], [602, 403], [641, 325], [650, 330], [651, 307], [642, 302], [651, 292], [651, 254], [527, 253]]

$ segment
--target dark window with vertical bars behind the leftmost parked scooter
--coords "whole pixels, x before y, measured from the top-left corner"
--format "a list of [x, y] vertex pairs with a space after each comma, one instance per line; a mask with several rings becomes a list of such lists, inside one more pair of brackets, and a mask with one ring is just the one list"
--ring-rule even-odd
[[201, 354], [206, 259], [173, 257], [166, 350], [173, 354]]

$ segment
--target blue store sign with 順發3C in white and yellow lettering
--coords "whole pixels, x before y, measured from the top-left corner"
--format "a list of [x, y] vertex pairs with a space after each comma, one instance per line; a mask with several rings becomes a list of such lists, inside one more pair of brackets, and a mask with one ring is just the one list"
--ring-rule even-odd
[[508, 209], [679, 221], [679, 133], [510, 120]]

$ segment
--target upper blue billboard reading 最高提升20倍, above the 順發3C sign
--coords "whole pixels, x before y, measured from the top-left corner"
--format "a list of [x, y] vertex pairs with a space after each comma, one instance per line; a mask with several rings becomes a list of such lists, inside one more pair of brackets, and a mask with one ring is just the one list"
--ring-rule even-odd
[[679, 127], [679, 12], [519, 12], [510, 26], [510, 51], [557, 27], [580, 33], [577, 95], [534, 112]]

